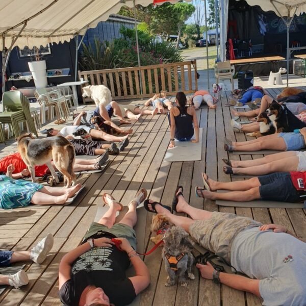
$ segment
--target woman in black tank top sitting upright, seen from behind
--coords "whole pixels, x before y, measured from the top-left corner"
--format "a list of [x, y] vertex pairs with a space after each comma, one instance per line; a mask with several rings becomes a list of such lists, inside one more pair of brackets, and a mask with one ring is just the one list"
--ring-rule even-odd
[[195, 109], [191, 106], [186, 106], [187, 98], [184, 92], [178, 92], [175, 98], [179, 106], [170, 109], [169, 148], [175, 146], [174, 138], [179, 141], [188, 141], [195, 134], [195, 139], [191, 141], [199, 141], [199, 125]]

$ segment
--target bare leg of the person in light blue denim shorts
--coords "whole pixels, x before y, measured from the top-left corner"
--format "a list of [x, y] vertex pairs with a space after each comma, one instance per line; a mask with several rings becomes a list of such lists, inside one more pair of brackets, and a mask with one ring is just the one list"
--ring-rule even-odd
[[264, 149], [285, 151], [286, 148], [286, 143], [282, 137], [271, 139], [262, 139], [261, 137], [255, 143], [246, 143], [240, 146], [233, 144], [234, 151], [260, 151]]

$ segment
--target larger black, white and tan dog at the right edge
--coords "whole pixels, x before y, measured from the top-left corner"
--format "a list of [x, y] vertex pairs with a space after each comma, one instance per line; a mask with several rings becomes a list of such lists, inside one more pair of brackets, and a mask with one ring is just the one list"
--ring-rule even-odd
[[293, 115], [285, 105], [278, 104], [275, 100], [266, 110], [266, 114], [273, 122], [275, 133], [293, 132], [302, 129], [306, 124]]

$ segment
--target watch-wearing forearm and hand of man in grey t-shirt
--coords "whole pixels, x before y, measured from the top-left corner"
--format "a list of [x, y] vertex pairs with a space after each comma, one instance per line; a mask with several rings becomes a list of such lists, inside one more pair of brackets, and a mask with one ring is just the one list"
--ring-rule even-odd
[[[213, 279], [214, 267], [208, 262], [207, 265], [196, 264], [201, 276], [206, 279]], [[228, 287], [247, 291], [261, 297], [259, 292], [260, 279], [251, 279], [242, 275], [220, 272], [220, 283]]]

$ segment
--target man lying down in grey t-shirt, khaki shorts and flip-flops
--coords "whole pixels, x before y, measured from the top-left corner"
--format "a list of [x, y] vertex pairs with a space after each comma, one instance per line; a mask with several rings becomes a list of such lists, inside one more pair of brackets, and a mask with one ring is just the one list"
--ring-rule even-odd
[[306, 305], [303, 241], [282, 225], [196, 209], [187, 203], [182, 191], [178, 189], [172, 208], [190, 218], [173, 215], [169, 207], [151, 200], [146, 200], [144, 207], [182, 226], [199, 245], [248, 276], [219, 272], [210, 263], [196, 264], [203, 278], [253, 293], [263, 299], [263, 305]]

